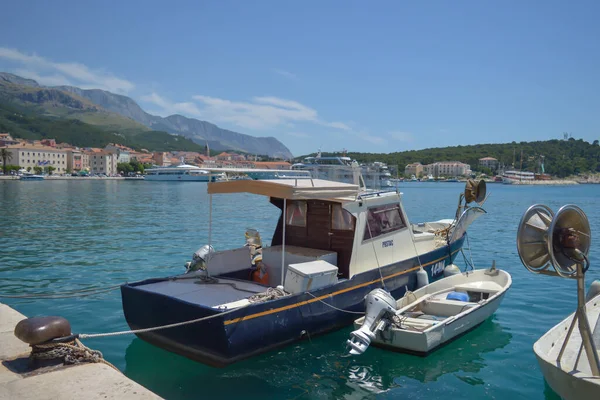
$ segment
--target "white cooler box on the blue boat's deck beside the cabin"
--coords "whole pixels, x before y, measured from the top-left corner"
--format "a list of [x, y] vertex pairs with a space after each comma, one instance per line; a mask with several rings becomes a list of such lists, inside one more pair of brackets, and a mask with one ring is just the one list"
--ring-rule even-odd
[[292, 294], [310, 292], [336, 284], [337, 271], [335, 265], [323, 260], [290, 264], [283, 287], [286, 292]]

